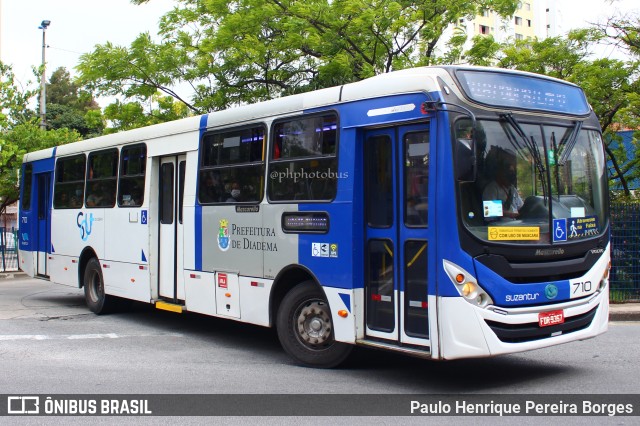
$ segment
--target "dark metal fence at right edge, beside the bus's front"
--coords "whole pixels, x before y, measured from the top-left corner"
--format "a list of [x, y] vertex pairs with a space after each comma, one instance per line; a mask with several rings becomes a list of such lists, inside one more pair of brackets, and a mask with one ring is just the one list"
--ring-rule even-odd
[[640, 301], [640, 204], [611, 203], [611, 301]]

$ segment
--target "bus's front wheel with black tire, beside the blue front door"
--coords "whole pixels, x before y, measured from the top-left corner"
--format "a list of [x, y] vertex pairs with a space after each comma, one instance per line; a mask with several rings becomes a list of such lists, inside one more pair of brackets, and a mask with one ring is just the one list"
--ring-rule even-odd
[[305, 281], [286, 294], [278, 309], [276, 327], [284, 350], [308, 367], [335, 367], [353, 348], [335, 341], [329, 304], [312, 281]]

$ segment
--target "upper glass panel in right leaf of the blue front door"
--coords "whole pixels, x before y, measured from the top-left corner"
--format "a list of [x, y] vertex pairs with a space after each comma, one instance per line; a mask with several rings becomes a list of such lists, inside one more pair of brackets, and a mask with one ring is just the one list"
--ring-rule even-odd
[[427, 189], [429, 188], [429, 132], [404, 136], [404, 223], [427, 226]]

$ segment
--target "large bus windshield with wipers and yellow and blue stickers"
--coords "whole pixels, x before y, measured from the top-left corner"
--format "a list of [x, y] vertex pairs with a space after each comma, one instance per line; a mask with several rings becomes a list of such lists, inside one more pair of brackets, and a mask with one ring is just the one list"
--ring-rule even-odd
[[[456, 123], [456, 138], [471, 123]], [[478, 120], [477, 177], [459, 183], [463, 223], [477, 238], [515, 244], [560, 244], [606, 228], [602, 139], [581, 123], [520, 123], [505, 114]], [[551, 229], [550, 229], [551, 228]]]

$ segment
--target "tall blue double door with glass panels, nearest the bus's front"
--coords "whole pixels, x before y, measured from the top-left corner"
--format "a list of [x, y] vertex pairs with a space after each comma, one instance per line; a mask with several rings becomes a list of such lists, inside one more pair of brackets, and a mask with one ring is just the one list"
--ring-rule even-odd
[[367, 340], [428, 351], [429, 125], [364, 136]]

